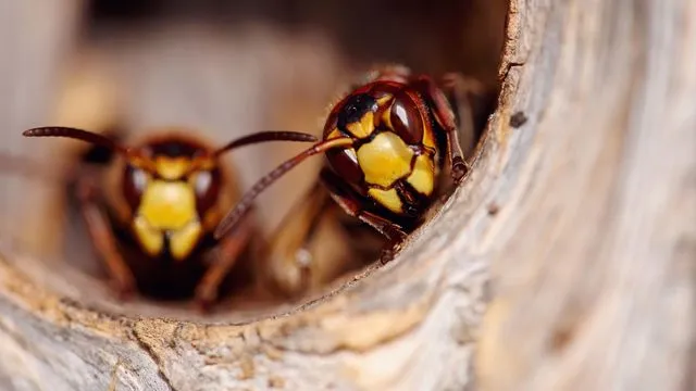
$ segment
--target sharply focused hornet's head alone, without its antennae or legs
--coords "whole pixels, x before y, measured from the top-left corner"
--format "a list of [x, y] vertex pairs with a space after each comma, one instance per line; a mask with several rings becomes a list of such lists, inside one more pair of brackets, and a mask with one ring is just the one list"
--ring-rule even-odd
[[[368, 201], [365, 209], [400, 223], [406, 229], [431, 204], [444, 164], [443, 152], [448, 148], [444, 124], [453, 117], [451, 111], [444, 114], [436, 111], [434, 100], [446, 100], [439, 90], [431, 92], [430, 88], [425, 76], [391, 75], [389, 79], [369, 83], [336, 104], [323, 131], [324, 140], [339, 137], [353, 140], [350, 147], [326, 151], [332, 171]], [[433, 93], [437, 96], [432, 97]], [[444, 108], [449, 110], [448, 105]], [[355, 124], [361, 124], [359, 130]], [[366, 150], [375, 138], [389, 134], [396, 136], [386, 141], [389, 150], [375, 148], [374, 153]], [[403, 143], [398, 143], [397, 138]], [[383, 159], [383, 166], [370, 166], [361, 162], [362, 151], [365, 161], [371, 157], [374, 161], [371, 155], [377, 153], [391, 155]], [[366, 176], [365, 172], [374, 175]]]

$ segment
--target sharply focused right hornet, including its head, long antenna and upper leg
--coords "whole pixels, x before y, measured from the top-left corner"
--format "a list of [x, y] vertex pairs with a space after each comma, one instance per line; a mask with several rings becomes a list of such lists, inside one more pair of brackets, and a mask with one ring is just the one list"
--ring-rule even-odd
[[428, 76], [381, 68], [335, 104], [322, 140], [259, 180], [215, 236], [225, 235], [273, 181], [319, 153], [326, 157], [320, 182], [333, 200], [393, 243], [421, 222], [438, 193], [444, 168], [455, 181], [468, 169], [455, 112], [443, 90]]

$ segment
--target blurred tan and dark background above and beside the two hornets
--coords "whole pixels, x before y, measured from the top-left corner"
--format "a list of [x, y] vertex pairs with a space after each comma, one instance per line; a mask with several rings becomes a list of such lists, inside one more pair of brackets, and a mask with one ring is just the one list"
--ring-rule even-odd
[[[326, 106], [374, 63], [461, 72], [495, 90], [506, 12], [505, 0], [3, 1], [0, 150], [41, 163], [55, 180], [3, 171], [1, 250], [34, 254], [8, 257], [51, 289], [100, 298], [88, 277], [100, 267], [89, 243], [66, 244], [64, 189], [57, 186], [62, 164], [85, 146], [22, 139], [26, 128], [117, 125], [130, 138], [176, 125], [216, 143], [262, 129], [320, 135]], [[254, 146], [227, 159], [247, 189], [302, 147]], [[308, 161], [262, 197], [264, 231], [319, 164]], [[63, 266], [79, 256], [91, 261]], [[54, 273], [40, 272], [47, 267]]]

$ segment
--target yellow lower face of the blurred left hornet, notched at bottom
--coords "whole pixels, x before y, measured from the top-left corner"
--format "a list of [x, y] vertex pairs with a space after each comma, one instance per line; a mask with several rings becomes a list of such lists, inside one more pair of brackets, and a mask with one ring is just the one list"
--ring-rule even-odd
[[133, 224], [138, 240], [151, 255], [162, 252], [164, 231], [170, 231], [172, 255], [177, 260], [186, 257], [202, 232], [194, 188], [184, 181], [150, 182]]

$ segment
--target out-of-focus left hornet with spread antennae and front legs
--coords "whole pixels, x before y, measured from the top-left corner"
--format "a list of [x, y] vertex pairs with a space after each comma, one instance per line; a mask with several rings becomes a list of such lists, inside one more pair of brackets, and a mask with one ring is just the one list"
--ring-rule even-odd
[[117, 292], [139, 289], [181, 297], [195, 289], [203, 307], [216, 300], [220, 285], [253, 237], [249, 219], [222, 240], [212, 235], [237, 197], [221, 155], [264, 141], [315, 140], [304, 134], [265, 131], [215, 149], [171, 128], [134, 147], [65, 127], [29, 129], [24, 136], [73, 138], [115, 152], [103, 181], [80, 174], [76, 187], [91, 241]]

